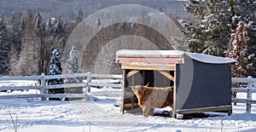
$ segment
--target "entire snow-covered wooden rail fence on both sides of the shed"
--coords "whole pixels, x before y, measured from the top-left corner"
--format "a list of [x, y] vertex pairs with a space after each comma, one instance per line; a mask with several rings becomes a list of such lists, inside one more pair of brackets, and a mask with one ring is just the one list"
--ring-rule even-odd
[[[55, 79], [55, 78], [67, 78], [67, 77], [84, 77], [86, 78], [86, 82], [84, 83], [64, 83], [58, 85], [47, 85], [47, 80]], [[33, 86], [4, 86], [0, 87], [0, 90], [27, 90], [27, 89], [39, 89], [40, 94], [26, 94], [26, 95], [0, 95], [0, 99], [15, 99], [15, 98], [42, 98], [45, 100], [46, 98], [73, 98], [73, 97], [85, 97], [86, 93], [90, 93], [91, 86], [108, 86], [113, 88], [121, 88], [121, 83], [101, 83], [101, 82], [93, 82], [92, 80], [100, 80], [100, 79], [119, 79], [121, 80], [121, 75], [110, 75], [110, 74], [92, 74], [91, 72], [85, 73], [75, 73], [75, 74], [61, 74], [54, 76], [46, 76], [42, 74], [41, 76], [27, 76], [27, 77], [0, 77], [0, 81], [17, 81], [17, 80], [28, 80], [28, 81], [39, 81], [41, 84], [33, 85]], [[256, 78], [247, 77], [233, 77], [232, 83], [245, 83], [246, 87], [232, 88], [232, 92], [243, 92], [247, 93], [247, 99], [237, 99], [232, 98], [232, 102], [236, 103], [246, 103], [247, 104], [247, 112], [251, 112], [252, 104], [256, 104], [256, 100], [252, 100], [252, 94], [256, 93], [256, 86], [253, 86], [253, 83], [256, 83]], [[74, 87], [84, 87], [86, 88], [86, 92], [84, 94], [48, 94], [47, 89], [61, 89], [61, 88], [74, 88]]]

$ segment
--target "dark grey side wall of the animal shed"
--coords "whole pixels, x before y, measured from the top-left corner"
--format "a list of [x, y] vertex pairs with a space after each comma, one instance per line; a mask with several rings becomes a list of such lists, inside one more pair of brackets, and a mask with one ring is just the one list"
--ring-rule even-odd
[[208, 64], [189, 57], [177, 65], [175, 110], [231, 105], [230, 64]]

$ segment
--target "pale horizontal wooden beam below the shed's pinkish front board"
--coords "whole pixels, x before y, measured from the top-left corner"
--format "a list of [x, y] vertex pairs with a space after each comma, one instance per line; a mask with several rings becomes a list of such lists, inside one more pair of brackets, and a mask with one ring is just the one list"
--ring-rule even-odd
[[122, 69], [126, 70], [166, 70], [166, 71], [176, 71], [176, 66], [155, 66], [155, 65], [148, 65], [148, 66], [139, 66], [139, 65], [126, 65], [122, 64]]

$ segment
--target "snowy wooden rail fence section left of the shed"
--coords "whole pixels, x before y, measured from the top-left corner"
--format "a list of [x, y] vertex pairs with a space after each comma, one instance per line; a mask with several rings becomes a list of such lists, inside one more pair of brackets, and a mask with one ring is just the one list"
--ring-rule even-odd
[[[64, 83], [57, 85], [47, 85], [47, 80], [55, 78], [68, 78], [68, 77], [84, 77], [86, 78], [85, 83]], [[116, 83], [99, 83], [93, 82], [92, 79], [121, 79], [121, 75], [109, 75], [109, 74], [92, 74], [91, 72], [85, 73], [75, 73], [75, 74], [61, 74], [54, 76], [46, 76], [44, 73], [41, 76], [27, 76], [27, 77], [0, 77], [0, 81], [17, 81], [17, 80], [27, 80], [27, 81], [39, 81], [39, 85], [33, 86], [3, 86], [0, 90], [28, 90], [28, 89], [38, 89], [40, 94], [15, 94], [15, 95], [0, 95], [0, 99], [15, 99], [15, 98], [84, 98], [87, 92], [90, 92], [91, 86], [108, 86], [114, 88], [121, 88], [121, 84]], [[62, 89], [62, 88], [86, 88], [84, 94], [48, 94], [47, 89]]]

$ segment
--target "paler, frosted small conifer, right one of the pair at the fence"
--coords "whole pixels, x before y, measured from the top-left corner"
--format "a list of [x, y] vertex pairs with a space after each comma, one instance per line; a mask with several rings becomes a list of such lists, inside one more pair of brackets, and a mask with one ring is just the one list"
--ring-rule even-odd
[[[67, 72], [68, 74], [73, 73], [81, 73], [80, 67], [79, 67], [79, 58], [77, 56], [76, 50], [73, 49], [70, 51], [70, 56], [68, 59], [68, 65], [67, 65]], [[83, 83], [83, 77], [69, 77], [66, 78], [64, 83]], [[66, 88], [65, 92], [70, 94], [80, 94], [83, 93], [83, 88]]]

